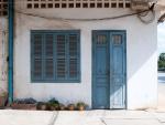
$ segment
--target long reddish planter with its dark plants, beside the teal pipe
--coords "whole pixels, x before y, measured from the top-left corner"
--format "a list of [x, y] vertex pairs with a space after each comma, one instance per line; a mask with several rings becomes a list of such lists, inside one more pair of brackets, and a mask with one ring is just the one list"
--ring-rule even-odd
[[36, 110], [36, 101], [34, 98], [15, 100], [11, 107], [13, 110]]

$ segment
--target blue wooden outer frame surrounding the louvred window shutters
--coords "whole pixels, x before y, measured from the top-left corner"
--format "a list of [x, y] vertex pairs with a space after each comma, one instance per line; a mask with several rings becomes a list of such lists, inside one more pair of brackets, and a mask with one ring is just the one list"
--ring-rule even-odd
[[[77, 71], [78, 71], [77, 79], [75, 79], [75, 80], [74, 79], [72, 80], [72, 77], [69, 79], [69, 73], [66, 74], [66, 80], [63, 80], [63, 79], [57, 80], [56, 79], [57, 75], [55, 75], [54, 79], [52, 79], [52, 80], [51, 79], [46, 79], [44, 76], [42, 77], [43, 80], [42, 79], [36, 80], [33, 76], [33, 67], [34, 67], [34, 62], [33, 62], [34, 61], [34, 55], [33, 55], [33, 51], [34, 51], [34, 49], [33, 49], [34, 43], [33, 42], [34, 42], [34, 40], [33, 40], [33, 37], [34, 37], [34, 34], [43, 34], [43, 35], [45, 35], [45, 34], [53, 34], [53, 37], [57, 35], [57, 34], [64, 34], [65, 37], [66, 35], [68, 37], [69, 34], [76, 34], [77, 40], [78, 40], [77, 41], [77, 51], [78, 51], [77, 52]], [[45, 41], [45, 38], [42, 39], [42, 41]], [[65, 40], [65, 41], [68, 41], [68, 40]], [[44, 44], [44, 48], [45, 48], [45, 44]], [[69, 48], [69, 45], [67, 45], [67, 50], [68, 50], [68, 48]], [[32, 83], [80, 83], [81, 82], [80, 30], [31, 30], [31, 50], [30, 50], [30, 52], [31, 52], [30, 56], [31, 56], [31, 82]], [[42, 49], [42, 52], [43, 52], [43, 49]], [[56, 54], [56, 53], [54, 52], [54, 54]], [[66, 54], [69, 56], [68, 53], [66, 53]], [[68, 56], [66, 58], [66, 60], [68, 60]], [[43, 58], [42, 58], [42, 60], [43, 60]], [[56, 56], [54, 56], [53, 60], [55, 62], [57, 62]], [[54, 65], [54, 66], [56, 66], [56, 65]], [[44, 67], [44, 66], [42, 65], [42, 67]], [[67, 69], [68, 67], [69, 67], [69, 65], [67, 64]], [[55, 69], [54, 74], [56, 74], [56, 72], [57, 72], [57, 69]], [[42, 74], [43, 73], [45, 74], [45, 72], [42, 71]]]

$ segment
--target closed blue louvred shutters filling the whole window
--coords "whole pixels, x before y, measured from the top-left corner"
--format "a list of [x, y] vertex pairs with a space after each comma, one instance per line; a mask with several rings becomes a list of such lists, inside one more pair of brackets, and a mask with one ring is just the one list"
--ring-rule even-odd
[[78, 31], [32, 31], [32, 82], [80, 82]]

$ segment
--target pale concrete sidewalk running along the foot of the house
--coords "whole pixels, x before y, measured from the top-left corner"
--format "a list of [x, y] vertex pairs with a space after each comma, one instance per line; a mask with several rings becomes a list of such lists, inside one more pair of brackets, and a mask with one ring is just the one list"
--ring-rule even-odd
[[1, 110], [0, 125], [165, 125], [165, 112]]

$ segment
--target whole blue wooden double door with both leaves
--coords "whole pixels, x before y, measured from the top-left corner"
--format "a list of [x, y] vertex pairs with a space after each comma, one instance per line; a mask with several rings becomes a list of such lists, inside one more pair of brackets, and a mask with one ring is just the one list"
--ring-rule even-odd
[[125, 108], [125, 34], [92, 33], [92, 107]]

